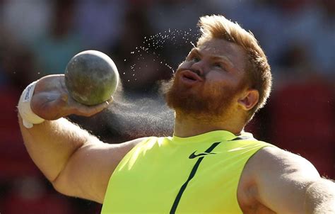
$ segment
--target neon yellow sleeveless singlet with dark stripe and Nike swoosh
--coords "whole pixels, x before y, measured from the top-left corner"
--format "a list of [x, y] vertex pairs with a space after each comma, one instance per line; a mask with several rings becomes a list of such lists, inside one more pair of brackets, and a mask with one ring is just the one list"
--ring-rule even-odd
[[266, 142], [219, 130], [193, 137], [149, 137], [110, 178], [102, 213], [242, 213], [237, 185]]

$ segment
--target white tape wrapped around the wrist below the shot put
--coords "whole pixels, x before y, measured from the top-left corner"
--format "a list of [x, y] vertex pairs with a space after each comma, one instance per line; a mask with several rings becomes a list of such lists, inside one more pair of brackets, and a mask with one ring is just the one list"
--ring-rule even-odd
[[23, 125], [25, 128], [32, 128], [33, 124], [43, 123], [45, 119], [40, 118], [33, 110], [30, 108], [30, 101], [34, 94], [34, 89], [37, 81], [29, 84], [20, 96], [20, 101], [18, 101], [18, 112], [23, 120]]

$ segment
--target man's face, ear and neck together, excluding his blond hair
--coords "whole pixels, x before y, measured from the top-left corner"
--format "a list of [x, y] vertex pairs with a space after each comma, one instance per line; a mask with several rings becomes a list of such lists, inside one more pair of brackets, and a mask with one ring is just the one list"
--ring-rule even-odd
[[[194, 47], [180, 64], [172, 87], [177, 97], [205, 98], [219, 113], [185, 111], [185, 101], [176, 101], [175, 130], [189, 137], [212, 130], [228, 130], [236, 135], [245, 126], [245, 113], [258, 101], [258, 91], [245, 84], [245, 50], [221, 39]], [[178, 99], [178, 98], [175, 98]], [[168, 101], [167, 101], [168, 102]], [[168, 102], [169, 103], [169, 102]], [[196, 106], [196, 103], [192, 103]], [[211, 107], [209, 107], [211, 108]]]

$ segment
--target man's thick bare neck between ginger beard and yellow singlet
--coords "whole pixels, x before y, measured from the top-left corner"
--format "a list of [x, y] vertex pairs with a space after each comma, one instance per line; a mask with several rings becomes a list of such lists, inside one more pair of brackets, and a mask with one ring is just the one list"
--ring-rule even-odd
[[244, 126], [235, 120], [216, 117], [216, 119], [204, 116], [185, 116], [183, 113], [175, 113], [174, 135], [178, 137], [191, 137], [215, 130], [226, 130], [235, 135], [240, 135]]

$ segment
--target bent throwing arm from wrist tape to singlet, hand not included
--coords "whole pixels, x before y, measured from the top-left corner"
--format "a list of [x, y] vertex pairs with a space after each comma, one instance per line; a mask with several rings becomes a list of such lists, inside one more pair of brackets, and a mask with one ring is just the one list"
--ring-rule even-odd
[[119, 161], [143, 140], [110, 145], [64, 118], [30, 129], [19, 123], [30, 157], [57, 191], [98, 203]]

